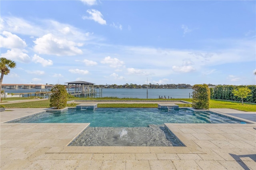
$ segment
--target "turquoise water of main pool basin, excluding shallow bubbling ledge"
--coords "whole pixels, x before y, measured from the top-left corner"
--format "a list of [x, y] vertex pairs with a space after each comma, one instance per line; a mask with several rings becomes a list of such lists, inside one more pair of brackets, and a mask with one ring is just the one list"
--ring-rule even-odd
[[147, 127], [164, 123], [241, 123], [209, 111], [157, 108], [97, 108], [45, 111], [8, 123], [90, 123], [90, 127]]

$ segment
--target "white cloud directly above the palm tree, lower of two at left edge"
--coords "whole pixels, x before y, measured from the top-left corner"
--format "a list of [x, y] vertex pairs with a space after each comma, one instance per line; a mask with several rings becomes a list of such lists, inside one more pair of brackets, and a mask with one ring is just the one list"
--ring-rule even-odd
[[1, 57], [5, 57], [7, 59], [11, 59], [13, 61], [20, 61], [22, 63], [29, 63], [30, 57], [28, 54], [24, 53], [24, 50], [13, 48], [11, 50], [7, 50], [6, 53], [2, 53]]

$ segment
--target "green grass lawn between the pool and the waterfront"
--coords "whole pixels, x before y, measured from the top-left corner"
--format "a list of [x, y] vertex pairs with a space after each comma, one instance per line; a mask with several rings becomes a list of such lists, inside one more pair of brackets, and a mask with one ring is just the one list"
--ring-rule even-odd
[[[21, 100], [22, 98], [19, 98]], [[100, 98], [95, 99], [68, 99], [68, 101], [72, 100], [99, 100]], [[155, 101], [163, 101], [163, 100], [184, 100], [191, 102], [191, 99], [101, 99], [101, 100], [155, 100]], [[50, 100], [38, 100], [38, 101], [29, 101], [29, 102], [22, 102], [22, 103], [1, 103], [1, 105], [4, 105], [6, 108], [48, 108], [50, 107]], [[192, 107], [191, 104], [178, 104], [180, 107]], [[157, 103], [153, 104], [142, 104], [142, 103], [135, 103], [135, 104], [98, 104], [98, 107], [157, 107]], [[226, 109], [236, 109], [240, 111], [250, 111], [250, 112], [256, 112], [256, 104], [252, 103], [242, 103], [235, 102], [235, 101], [223, 101], [223, 100], [216, 100], [211, 99], [210, 100], [210, 108], [226, 108]]]

